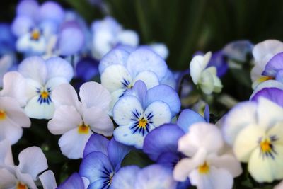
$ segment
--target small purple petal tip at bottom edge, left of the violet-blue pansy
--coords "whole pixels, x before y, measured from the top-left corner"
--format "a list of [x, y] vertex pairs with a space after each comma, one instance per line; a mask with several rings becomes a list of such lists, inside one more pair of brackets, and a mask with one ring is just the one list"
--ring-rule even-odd
[[73, 173], [69, 178], [67, 178], [64, 183], [59, 185], [57, 189], [84, 189], [83, 179], [79, 176], [79, 173]]

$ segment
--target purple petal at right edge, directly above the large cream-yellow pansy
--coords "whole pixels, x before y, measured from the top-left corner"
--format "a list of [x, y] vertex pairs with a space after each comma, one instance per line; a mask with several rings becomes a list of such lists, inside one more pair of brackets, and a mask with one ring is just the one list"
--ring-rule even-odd
[[258, 91], [258, 93], [256, 93], [250, 100], [258, 101], [260, 97], [270, 99], [270, 101], [275, 102], [283, 107], [283, 90], [279, 88], [263, 88], [262, 90]]

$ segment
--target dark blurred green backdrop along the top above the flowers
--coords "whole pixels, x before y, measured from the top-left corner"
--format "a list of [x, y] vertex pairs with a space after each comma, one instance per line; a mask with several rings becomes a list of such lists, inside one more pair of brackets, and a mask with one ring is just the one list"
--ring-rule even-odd
[[[58, 2], [74, 8], [88, 23], [107, 12], [125, 28], [137, 30], [142, 44], [164, 42], [172, 69], [186, 69], [197, 50], [220, 50], [232, 40], [283, 40], [281, 0], [106, 0], [108, 11], [89, 1]], [[7, 2], [0, 8], [6, 22], [13, 20], [18, 1]]]

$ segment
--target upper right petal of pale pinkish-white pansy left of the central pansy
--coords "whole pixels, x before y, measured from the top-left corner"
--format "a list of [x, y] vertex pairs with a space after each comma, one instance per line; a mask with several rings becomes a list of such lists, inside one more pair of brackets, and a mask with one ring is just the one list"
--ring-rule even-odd
[[109, 109], [111, 96], [101, 84], [93, 81], [83, 84], [80, 88], [79, 96], [86, 108], [96, 106], [105, 112]]

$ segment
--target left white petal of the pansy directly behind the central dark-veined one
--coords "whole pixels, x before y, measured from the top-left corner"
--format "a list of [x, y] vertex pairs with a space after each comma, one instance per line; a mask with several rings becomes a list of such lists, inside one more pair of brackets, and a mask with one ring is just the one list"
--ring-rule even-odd
[[[117, 89], [125, 87], [123, 83], [128, 81], [132, 83], [132, 76], [129, 71], [122, 65], [112, 65], [107, 67], [101, 74], [101, 84], [112, 93]], [[126, 86], [127, 87], [127, 86]]]

